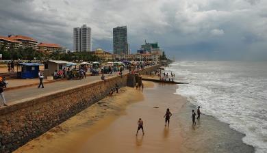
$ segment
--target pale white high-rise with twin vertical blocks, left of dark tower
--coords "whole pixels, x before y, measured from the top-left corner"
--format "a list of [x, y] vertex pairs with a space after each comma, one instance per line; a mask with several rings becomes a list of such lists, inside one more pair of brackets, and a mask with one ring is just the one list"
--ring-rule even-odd
[[90, 27], [82, 25], [73, 28], [73, 51], [92, 51]]

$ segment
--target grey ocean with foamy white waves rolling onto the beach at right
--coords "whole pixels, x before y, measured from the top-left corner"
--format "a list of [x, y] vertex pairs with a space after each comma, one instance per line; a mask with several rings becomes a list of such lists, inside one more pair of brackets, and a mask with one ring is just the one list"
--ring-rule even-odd
[[177, 61], [175, 94], [186, 96], [202, 113], [244, 133], [242, 141], [267, 152], [267, 63], [244, 61]]

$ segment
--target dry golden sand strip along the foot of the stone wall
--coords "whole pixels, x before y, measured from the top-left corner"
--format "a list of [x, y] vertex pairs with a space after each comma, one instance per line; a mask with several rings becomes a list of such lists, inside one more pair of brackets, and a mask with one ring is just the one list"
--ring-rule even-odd
[[[144, 85], [153, 87], [153, 83]], [[14, 152], [77, 152], [88, 137], [107, 128], [116, 118], [125, 114], [124, 110], [129, 104], [143, 99], [141, 90], [123, 87], [118, 94], [107, 96]]]

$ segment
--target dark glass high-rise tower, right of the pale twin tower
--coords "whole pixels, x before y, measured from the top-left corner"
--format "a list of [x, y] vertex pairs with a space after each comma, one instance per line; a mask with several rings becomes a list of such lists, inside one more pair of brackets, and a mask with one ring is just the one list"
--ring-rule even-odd
[[126, 26], [113, 28], [113, 53], [129, 55]]

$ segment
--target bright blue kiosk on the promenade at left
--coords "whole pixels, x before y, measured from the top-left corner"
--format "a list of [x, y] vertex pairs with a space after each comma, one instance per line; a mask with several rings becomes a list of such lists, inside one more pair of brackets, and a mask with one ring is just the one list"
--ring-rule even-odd
[[18, 72], [19, 79], [33, 79], [38, 78], [39, 66], [38, 63], [18, 63], [21, 66], [21, 72]]

